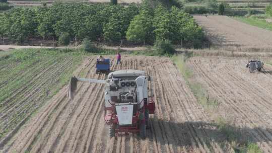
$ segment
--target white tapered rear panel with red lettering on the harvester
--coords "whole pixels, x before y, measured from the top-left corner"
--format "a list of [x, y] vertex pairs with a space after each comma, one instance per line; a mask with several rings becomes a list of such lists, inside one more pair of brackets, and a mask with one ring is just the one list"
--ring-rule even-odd
[[115, 105], [119, 125], [132, 124], [133, 104]]

